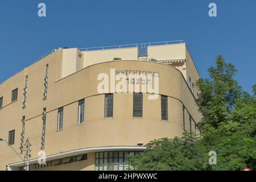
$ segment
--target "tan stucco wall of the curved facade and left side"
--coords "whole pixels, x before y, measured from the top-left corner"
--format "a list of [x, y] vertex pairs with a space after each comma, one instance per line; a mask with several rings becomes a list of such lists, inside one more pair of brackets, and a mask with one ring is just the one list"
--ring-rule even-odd
[[[83, 147], [136, 146], [138, 142], [146, 144], [153, 139], [181, 137], [183, 104], [196, 122], [200, 119], [195, 98], [182, 73], [174, 67], [150, 61], [110, 61], [91, 65], [59, 80], [61, 56], [60, 51], [56, 51], [0, 86], [0, 96], [3, 96], [5, 106], [0, 110], [0, 135], [7, 140], [8, 132], [15, 129], [13, 147], [19, 150], [21, 119], [26, 116], [25, 140], [27, 137], [31, 140], [32, 158], [38, 158], [40, 151], [44, 107], [47, 108], [44, 150], [47, 155]], [[47, 100], [43, 101], [46, 64], [49, 65], [49, 85]], [[109, 75], [112, 68], [159, 72], [159, 94], [168, 96], [168, 121], [160, 119], [160, 97], [148, 100], [147, 93], [143, 95], [143, 118], [132, 118], [132, 94], [114, 93], [114, 117], [104, 119], [104, 94], [97, 92], [100, 82], [97, 81], [97, 76], [100, 73]], [[22, 109], [26, 75], [27, 106]], [[10, 104], [11, 90], [15, 88], [19, 88], [18, 101]], [[82, 98], [85, 98], [85, 123], [77, 125], [78, 101]], [[57, 109], [63, 106], [63, 130], [56, 131]], [[186, 123], [189, 123], [188, 119], [186, 116]], [[0, 148], [0, 169], [4, 170], [7, 164], [19, 161], [15, 155], [10, 155], [10, 147], [5, 143], [1, 142]]]

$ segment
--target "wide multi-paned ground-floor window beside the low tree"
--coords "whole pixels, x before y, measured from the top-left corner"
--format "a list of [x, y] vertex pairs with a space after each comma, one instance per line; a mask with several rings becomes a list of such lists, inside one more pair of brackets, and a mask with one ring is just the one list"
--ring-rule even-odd
[[127, 155], [138, 155], [141, 151], [96, 152], [96, 171], [125, 171], [129, 169]]

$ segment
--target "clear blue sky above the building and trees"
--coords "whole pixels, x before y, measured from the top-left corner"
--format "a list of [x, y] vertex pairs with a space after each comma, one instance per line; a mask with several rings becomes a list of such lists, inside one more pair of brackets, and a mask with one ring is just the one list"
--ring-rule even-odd
[[[39, 18], [38, 4], [47, 17]], [[210, 2], [217, 17], [208, 16]], [[0, 1], [0, 82], [55, 47], [94, 47], [184, 39], [201, 77], [221, 54], [237, 80], [256, 84], [256, 1]]]

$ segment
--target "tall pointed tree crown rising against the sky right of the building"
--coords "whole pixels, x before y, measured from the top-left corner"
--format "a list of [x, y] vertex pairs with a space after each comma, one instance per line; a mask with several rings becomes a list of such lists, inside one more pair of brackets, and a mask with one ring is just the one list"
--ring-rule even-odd
[[[208, 69], [210, 79], [200, 78], [196, 86], [200, 90], [197, 105], [203, 115], [200, 124], [210, 123], [217, 128], [225, 122], [241, 95], [241, 86], [234, 80], [237, 69], [228, 64], [222, 56], [218, 56], [216, 67]], [[200, 125], [199, 125], [200, 126]]]

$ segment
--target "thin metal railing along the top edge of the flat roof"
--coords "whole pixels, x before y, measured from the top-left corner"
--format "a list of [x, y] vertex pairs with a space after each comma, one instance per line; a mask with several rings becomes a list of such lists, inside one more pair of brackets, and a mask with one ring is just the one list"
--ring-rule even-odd
[[97, 50], [106, 50], [106, 49], [133, 48], [133, 47], [146, 48], [148, 46], [160, 46], [160, 45], [182, 44], [182, 43], [184, 43], [184, 40], [171, 40], [171, 41], [164, 41], [164, 42], [125, 44], [125, 45], [118, 45], [118, 46], [86, 47], [86, 48], [79, 48], [79, 49], [80, 51], [97, 51]]

